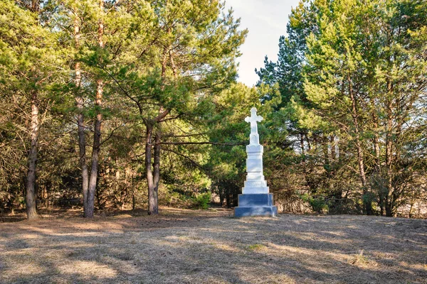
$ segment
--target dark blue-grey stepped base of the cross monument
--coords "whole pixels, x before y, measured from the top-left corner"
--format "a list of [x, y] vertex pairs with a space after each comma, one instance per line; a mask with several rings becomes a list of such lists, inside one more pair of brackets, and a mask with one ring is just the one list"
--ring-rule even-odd
[[273, 193], [238, 195], [238, 207], [234, 208], [234, 217], [278, 215], [278, 207], [273, 204]]

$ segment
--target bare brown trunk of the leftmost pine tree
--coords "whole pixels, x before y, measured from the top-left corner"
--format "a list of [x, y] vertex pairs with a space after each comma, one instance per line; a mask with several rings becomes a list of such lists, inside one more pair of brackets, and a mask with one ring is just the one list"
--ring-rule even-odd
[[38, 152], [38, 102], [37, 92], [33, 90], [31, 93], [31, 143], [30, 151], [28, 153], [28, 173], [26, 176], [26, 212], [28, 220], [37, 219], [37, 207], [36, 207], [36, 163], [37, 163], [37, 152]]

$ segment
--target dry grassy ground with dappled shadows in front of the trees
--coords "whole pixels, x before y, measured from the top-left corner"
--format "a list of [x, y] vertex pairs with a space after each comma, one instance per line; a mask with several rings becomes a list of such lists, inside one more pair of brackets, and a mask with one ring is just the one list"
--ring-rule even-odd
[[427, 221], [162, 208], [0, 223], [0, 283], [427, 283]]

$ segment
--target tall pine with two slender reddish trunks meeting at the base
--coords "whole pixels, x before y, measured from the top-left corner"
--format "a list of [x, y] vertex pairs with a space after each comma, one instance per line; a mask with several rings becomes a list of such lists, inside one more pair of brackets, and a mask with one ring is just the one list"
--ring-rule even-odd
[[[55, 3], [59, 7], [58, 28], [65, 31], [64, 41], [73, 54], [69, 60], [74, 69], [71, 89], [78, 125], [84, 216], [93, 217], [101, 160], [101, 125], [103, 116], [108, 116], [114, 104], [113, 99], [107, 101], [105, 98], [115, 95], [111, 88], [115, 83], [109, 72], [120, 64], [131, 64], [122, 53], [130, 45], [132, 35], [141, 30], [140, 22], [145, 20], [138, 17], [147, 5], [145, 1], [101, 0], [58, 0]], [[88, 130], [93, 131], [89, 165], [86, 158]]]

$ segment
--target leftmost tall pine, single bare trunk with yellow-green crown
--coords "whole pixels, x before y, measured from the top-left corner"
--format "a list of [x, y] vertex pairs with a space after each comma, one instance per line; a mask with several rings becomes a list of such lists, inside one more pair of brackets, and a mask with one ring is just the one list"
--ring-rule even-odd
[[1, 3], [2, 84], [4, 95], [20, 97], [19, 107], [28, 107], [28, 159], [26, 173], [26, 210], [28, 219], [38, 217], [36, 211], [36, 164], [38, 141], [42, 124], [41, 109], [51, 104], [50, 87], [58, 72], [59, 57], [53, 33], [40, 24], [41, 3], [33, 0], [22, 3]]

